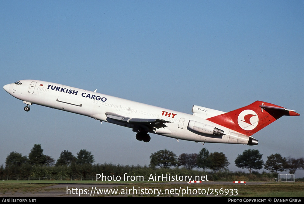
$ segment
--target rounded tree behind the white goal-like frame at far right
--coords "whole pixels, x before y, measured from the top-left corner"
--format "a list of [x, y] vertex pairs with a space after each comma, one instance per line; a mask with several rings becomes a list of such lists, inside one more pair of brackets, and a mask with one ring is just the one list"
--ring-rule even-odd
[[286, 158], [282, 157], [281, 154], [271, 154], [267, 157], [267, 161], [264, 168], [270, 172], [277, 173], [278, 171], [285, 171]]

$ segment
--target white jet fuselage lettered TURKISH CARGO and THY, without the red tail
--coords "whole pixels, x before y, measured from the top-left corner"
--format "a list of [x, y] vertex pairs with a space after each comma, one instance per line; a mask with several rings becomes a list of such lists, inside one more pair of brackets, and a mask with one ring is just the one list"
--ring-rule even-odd
[[[195, 106], [198, 112], [192, 110], [194, 114], [191, 115], [39, 80], [21, 80], [19, 81], [19, 84], [8, 84], [3, 88], [9, 94], [22, 100], [28, 105], [43, 105], [50, 108], [89, 116], [96, 120], [100, 120], [101, 122], [105, 121], [115, 123], [117, 125], [130, 128], [134, 128], [134, 123], [125, 123], [120, 122], [119, 120], [109, 119], [106, 113], [110, 112], [126, 118], [161, 119], [167, 122], [165, 123], [166, 127], [155, 128], [155, 130], [148, 132], [160, 134], [166, 137], [195, 142], [248, 143], [248, 136], [206, 120], [207, 117], [220, 115], [225, 112], [204, 107]], [[199, 111], [202, 113], [199, 113]], [[223, 134], [212, 135], [191, 131], [188, 128], [189, 121], [195, 121], [197, 123], [219, 128], [220, 130], [223, 130]]]

